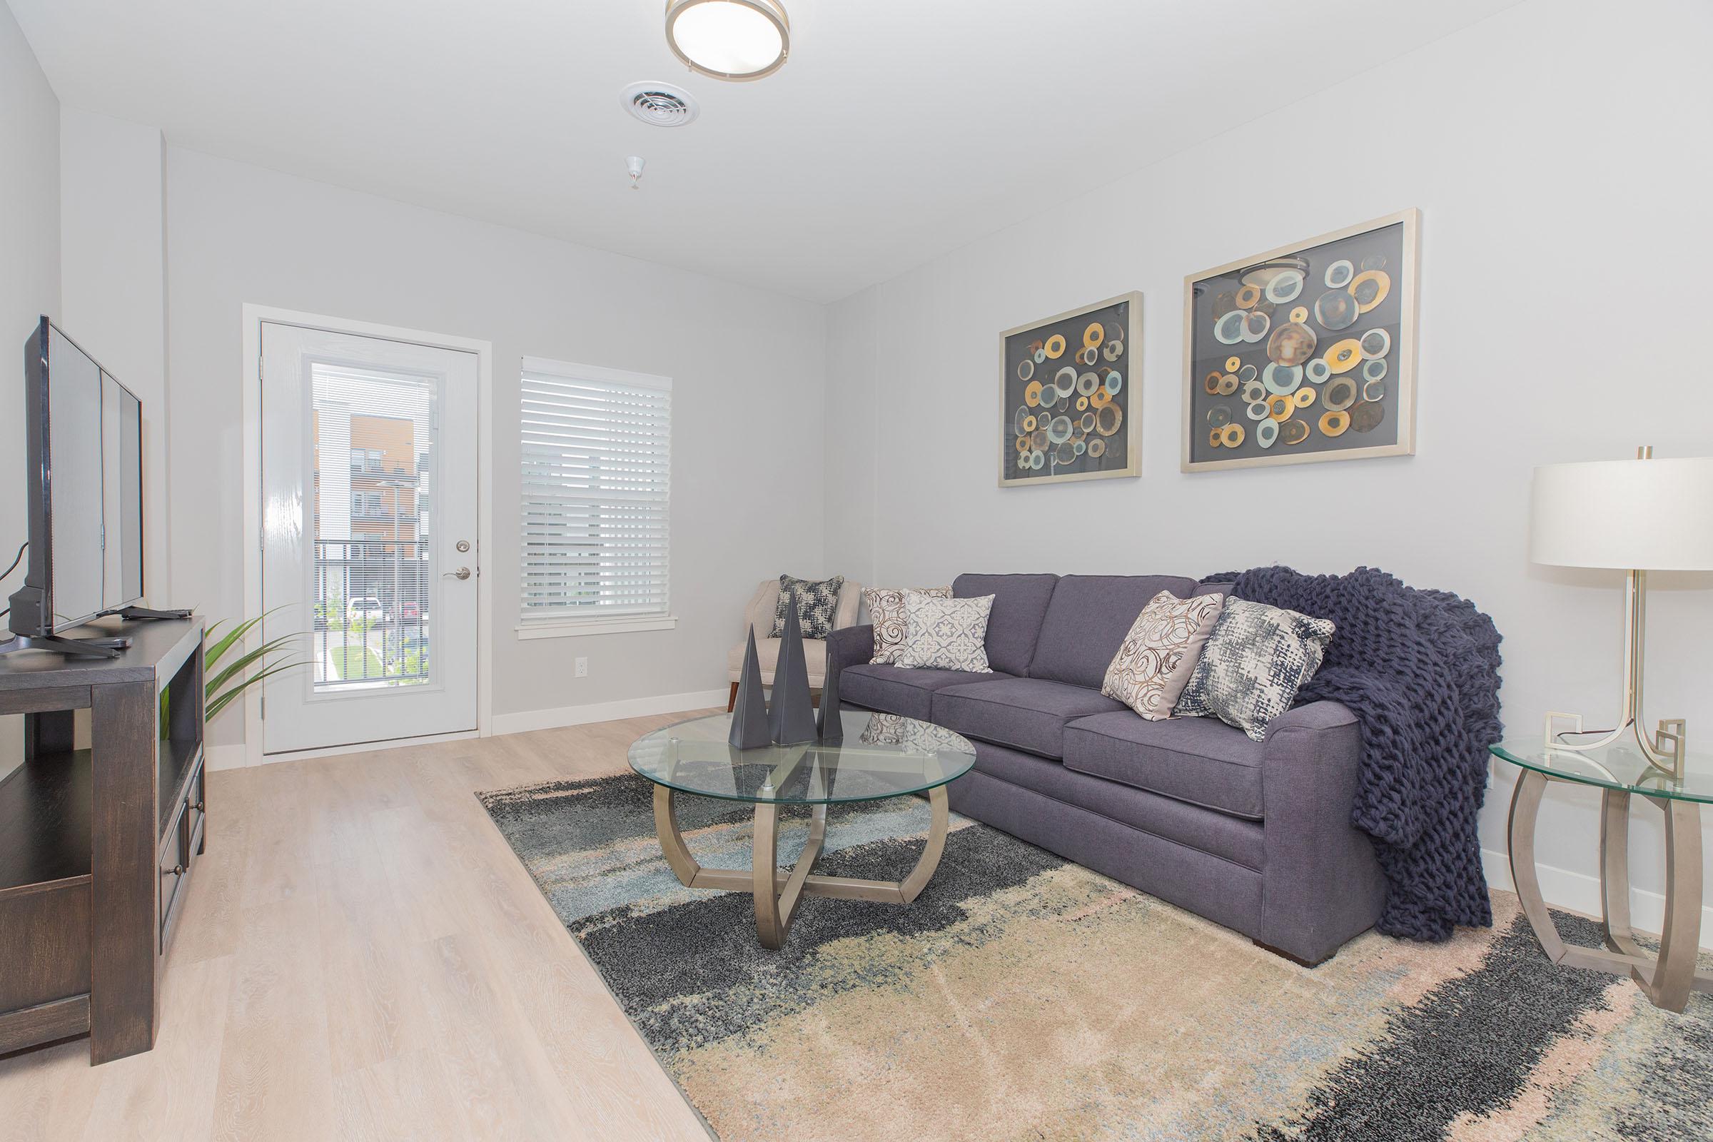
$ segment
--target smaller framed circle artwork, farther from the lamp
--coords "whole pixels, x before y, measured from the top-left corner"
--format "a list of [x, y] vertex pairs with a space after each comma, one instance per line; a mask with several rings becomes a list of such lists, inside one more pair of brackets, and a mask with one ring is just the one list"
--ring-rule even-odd
[[999, 334], [999, 486], [1141, 476], [1141, 353], [1137, 291]]

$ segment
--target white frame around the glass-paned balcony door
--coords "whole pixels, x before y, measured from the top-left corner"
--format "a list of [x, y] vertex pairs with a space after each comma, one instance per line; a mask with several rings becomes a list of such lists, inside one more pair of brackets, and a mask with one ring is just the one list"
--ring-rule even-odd
[[[377, 325], [344, 317], [301, 313], [271, 305], [243, 303], [243, 613], [262, 610], [262, 322], [303, 325], [334, 334], [360, 337], [387, 337], [409, 341], [435, 349], [459, 349], [476, 354], [476, 733], [437, 735], [411, 738], [409, 745], [427, 741], [452, 741], [457, 738], [486, 738], [493, 733], [493, 342], [475, 337], [451, 337], [421, 329]], [[250, 632], [247, 644], [260, 640]], [[250, 687], [243, 693], [243, 764], [288, 762], [331, 753], [358, 753], [389, 748], [389, 743], [358, 746], [332, 746], [327, 750], [300, 750], [267, 757], [262, 753], [262, 692]]]

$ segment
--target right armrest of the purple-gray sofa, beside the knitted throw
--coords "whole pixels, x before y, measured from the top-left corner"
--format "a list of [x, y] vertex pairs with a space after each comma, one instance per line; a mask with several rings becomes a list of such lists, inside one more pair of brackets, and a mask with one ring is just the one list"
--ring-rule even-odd
[[1372, 926], [1386, 901], [1374, 844], [1350, 824], [1360, 769], [1362, 726], [1340, 702], [1298, 705], [1268, 728], [1262, 943], [1310, 964]]

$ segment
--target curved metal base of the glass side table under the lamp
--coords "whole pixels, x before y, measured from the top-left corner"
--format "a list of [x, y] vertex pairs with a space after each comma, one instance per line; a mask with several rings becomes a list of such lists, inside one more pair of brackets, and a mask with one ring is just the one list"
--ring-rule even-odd
[[[1523, 770], [1511, 794], [1511, 880], [1523, 914], [1554, 964], [1631, 976], [1655, 1007], [1680, 1012], [1691, 991], [1713, 991], [1696, 971], [1701, 952], [1701, 813], [1694, 801], [1646, 798], [1665, 813], [1665, 931], [1660, 955], [1636, 945], [1629, 926], [1629, 793], [1605, 789], [1600, 803], [1600, 899], [1605, 949], [1567, 945], [1552, 926], [1535, 870], [1535, 818], [1549, 777]], [[660, 801], [656, 801], [660, 805]]]

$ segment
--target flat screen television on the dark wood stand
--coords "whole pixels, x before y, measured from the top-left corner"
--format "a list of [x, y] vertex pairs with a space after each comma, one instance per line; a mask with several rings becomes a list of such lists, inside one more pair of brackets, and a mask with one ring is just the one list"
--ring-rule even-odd
[[[43, 317], [24, 346], [29, 563], [7, 625], [55, 639], [142, 599], [142, 402]], [[116, 652], [108, 649], [106, 652]]]

